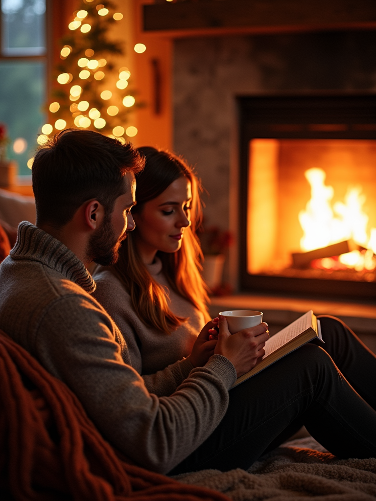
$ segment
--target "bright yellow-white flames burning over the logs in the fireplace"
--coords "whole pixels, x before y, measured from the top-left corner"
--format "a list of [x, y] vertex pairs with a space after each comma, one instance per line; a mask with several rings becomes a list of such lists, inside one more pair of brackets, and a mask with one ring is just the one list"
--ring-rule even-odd
[[[357, 271], [373, 270], [376, 266], [376, 228], [367, 232], [369, 218], [363, 211], [365, 195], [361, 187], [348, 187], [344, 201], [332, 204], [334, 189], [325, 185], [324, 170], [311, 168], [304, 175], [311, 186], [311, 198], [305, 210], [299, 212], [304, 233], [300, 240], [301, 249], [307, 252], [351, 239], [363, 250], [342, 254], [338, 266], [341, 264]], [[329, 263], [325, 262], [325, 265], [327, 268]]]

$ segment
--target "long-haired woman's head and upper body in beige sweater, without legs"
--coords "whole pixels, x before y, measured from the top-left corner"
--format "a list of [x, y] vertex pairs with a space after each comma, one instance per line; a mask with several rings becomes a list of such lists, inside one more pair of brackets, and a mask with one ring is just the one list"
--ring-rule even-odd
[[148, 391], [163, 396], [205, 365], [215, 346], [195, 345], [210, 320], [196, 236], [201, 186], [176, 155], [151, 147], [139, 152], [146, 164], [137, 176], [136, 228], [117, 264], [95, 274], [94, 295], [123, 334]]

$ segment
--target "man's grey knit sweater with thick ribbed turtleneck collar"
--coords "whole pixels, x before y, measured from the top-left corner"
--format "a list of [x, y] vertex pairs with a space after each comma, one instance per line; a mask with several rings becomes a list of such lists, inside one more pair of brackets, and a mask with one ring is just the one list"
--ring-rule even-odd
[[170, 396], [150, 394], [121, 332], [91, 296], [92, 277], [50, 234], [20, 223], [0, 284], [0, 329], [64, 381], [105, 438], [137, 464], [168, 472], [223, 418], [232, 363], [214, 355]]

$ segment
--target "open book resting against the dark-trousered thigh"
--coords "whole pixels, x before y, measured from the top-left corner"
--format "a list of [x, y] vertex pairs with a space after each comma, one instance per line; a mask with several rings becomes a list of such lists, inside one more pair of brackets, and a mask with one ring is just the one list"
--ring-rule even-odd
[[317, 320], [315, 315], [313, 315], [313, 311], [310, 310], [302, 317], [295, 320], [295, 322], [292, 322], [292, 324], [270, 337], [265, 344], [265, 355], [261, 362], [251, 371], [238, 377], [231, 388], [243, 383], [248, 378], [254, 376], [269, 365], [274, 364], [274, 362], [277, 362], [280, 358], [288, 355], [300, 346], [303, 346], [303, 344], [312, 341], [314, 338], [318, 338], [322, 341], [320, 321]]

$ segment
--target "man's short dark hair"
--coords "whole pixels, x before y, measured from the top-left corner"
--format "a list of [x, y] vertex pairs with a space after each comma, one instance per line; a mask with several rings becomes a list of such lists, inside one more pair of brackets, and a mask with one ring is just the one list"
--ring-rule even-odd
[[144, 159], [131, 143], [99, 132], [67, 129], [38, 148], [32, 177], [38, 224], [61, 227], [90, 199], [111, 213], [124, 193], [123, 177], [143, 169]]

